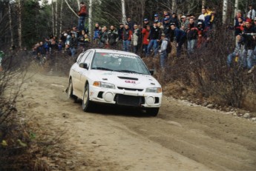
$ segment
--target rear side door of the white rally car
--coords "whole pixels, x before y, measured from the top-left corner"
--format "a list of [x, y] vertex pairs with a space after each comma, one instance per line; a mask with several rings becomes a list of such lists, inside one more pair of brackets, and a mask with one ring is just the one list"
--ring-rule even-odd
[[85, 58], [88, 56], [88, 54], [91, 51], [85, 52], [78, 61], [76, 61], [76, 64], [73, 68], [73, 90], [76, 92], [76, 95], [80, 95], [80, 88], [79, 88], [79, 79], [80, 79], [80, 73], [82, 70], [84, 70], [82, 67], [79, 67], [79, 64], [85, 62]]

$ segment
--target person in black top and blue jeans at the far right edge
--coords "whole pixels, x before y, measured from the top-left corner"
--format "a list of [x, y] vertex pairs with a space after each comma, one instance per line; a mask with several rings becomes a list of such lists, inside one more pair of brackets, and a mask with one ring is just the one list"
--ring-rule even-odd
[[252, 20], [246, 19], [246, 26], [243, 29], [242, 36], [245, 41], [245, 50], [243, 51], [242, 61], [243, 61], [243, 67], [247, 69], [252, 69], [252, 67], [255, 65], [255, 56], [254, 56], [254, 50], [255, 50], [255, 40], [256, 40], [256, 30], [254, 27], [252, 27]]

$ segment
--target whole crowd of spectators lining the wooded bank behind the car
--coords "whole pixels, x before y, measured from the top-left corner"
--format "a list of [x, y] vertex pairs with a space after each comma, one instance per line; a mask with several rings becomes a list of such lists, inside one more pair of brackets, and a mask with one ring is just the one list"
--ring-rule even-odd
[[[249, 12], [243, 17], [240, 10], [235, 17], [234, 36], [236, 36], [236, 48], [227, 58], [227, 65], [231, 67], [234, 61], [246, 69], [252, 70], [255, 66], [255, 34], [256, 16], [252, 5]], [[93, 39], [90, 40], [88, 30], [73, 27], [65, 30], [57, 39], [50, 36], [45, 42], [39, 42], [34, 47], [34, 52], [39, 56], [57, 50], [74, 57], [77, 52], [85, 51], [89, 47], [124, 50], [139, 54], [141, 57], [155, 57], [160, 54], [160, 65], [167, 64], [168, 53], [171, 52], [169, 42], [176, 47], [177, 58], [193, 55], [195, 50], [206, 48], [211, 41], [215, 21], [214, 10], [203, 7], [200, 16], [194, 14], [178, 14], [163, 11], [163, 14], [154, 14], [154, 20], [145, 18], [140, 25], [127, 18], [125, 24], [101, 26], [95, 24]], [[164, 44], [162, 42], [165, 41]], [[173, 54], [173, 53], [172, 53]], [[238, 56], [238, 59], [236, 58]]]

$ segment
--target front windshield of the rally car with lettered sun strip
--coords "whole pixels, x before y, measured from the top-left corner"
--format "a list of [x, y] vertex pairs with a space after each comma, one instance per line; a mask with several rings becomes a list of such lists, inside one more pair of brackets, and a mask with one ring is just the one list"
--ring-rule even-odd
[[95, 53], [91, 69], [150, 75], [140, 56], [118, 53]]

